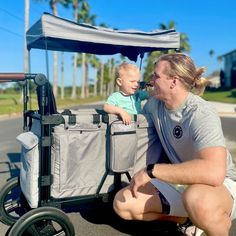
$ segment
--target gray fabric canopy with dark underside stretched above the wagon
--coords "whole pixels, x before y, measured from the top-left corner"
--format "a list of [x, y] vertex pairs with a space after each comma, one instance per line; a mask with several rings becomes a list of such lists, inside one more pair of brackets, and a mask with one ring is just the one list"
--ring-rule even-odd
[[175, 29], [151, 32], [114, 30], [75, 22], [44, 13], [26, 33], [27, 48], [97, 55], [121, 53], [136, 61], [139, 54], [178, 49], [180, 35]]

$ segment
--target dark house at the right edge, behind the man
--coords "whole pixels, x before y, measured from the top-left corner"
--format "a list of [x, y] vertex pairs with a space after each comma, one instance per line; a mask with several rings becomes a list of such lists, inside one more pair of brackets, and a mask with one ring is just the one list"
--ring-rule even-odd
[[224, 69], [221, 71], [221, 85], [236, 88], [236, 49], [219, 56], [218, 60], [224, 61]]

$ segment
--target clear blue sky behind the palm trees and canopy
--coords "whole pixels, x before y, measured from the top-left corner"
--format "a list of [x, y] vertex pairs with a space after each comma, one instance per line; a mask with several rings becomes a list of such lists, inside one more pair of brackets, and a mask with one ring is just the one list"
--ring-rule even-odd
[[[176, 30], [189, 37], [190, 56], [197, 66], [207, 67], [206, 74], [219, 70], [217, 57], [236, 49], [235, 0], [88, 0], [96, 23], [111, 28], [151, 31], [160, 23], [176, 22]], [[30, 23], [43, 12], [50, 12], [48, 3], [30, 1]], [[72, 9], [58, 7], [60, 17], [72, 19]], [[23, 72], [24, 0], [2, 1], [0, 5], [0, 72]], [[209, 51], [215, 54], [210, 57]], [[31, 54], [31, 71], [45, 73], [45, 54]], [[65, 57], [66, 84], [71, 83], [72, 54]], [[106, 59], [104, 59], [106, 60]], [[80, 74], [78, 73], [78, 77]]]

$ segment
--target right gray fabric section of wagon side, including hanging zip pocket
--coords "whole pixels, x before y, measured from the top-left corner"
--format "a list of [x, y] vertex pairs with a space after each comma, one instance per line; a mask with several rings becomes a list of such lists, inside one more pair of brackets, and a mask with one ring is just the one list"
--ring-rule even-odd
[[138, 114], [130, 125], [109, 115], [109, 168], [131, 175], [149, 163], [157, 162], [161, 144], [149, 114]]

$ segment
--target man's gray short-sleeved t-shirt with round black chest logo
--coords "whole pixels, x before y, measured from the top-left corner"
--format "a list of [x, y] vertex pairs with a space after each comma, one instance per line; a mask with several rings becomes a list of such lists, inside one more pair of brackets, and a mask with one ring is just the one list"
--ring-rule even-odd
[[[221, 121], [216, 110], [205, 100], [189, 93], [176, 110], [168, 110], [164, 103], [151, 98], [144, 107], [150, 113], [157, 133], [171, 163], [195, 158], [206, 147], [225, 147]], [[227, 177], [236, 180], [236, 167], [227, 151]]]

